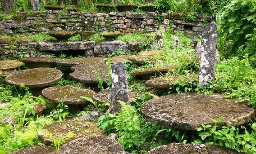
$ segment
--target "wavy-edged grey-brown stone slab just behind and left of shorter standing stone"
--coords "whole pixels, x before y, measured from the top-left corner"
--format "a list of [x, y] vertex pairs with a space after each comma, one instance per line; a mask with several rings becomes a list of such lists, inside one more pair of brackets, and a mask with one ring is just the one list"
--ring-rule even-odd
[[87, 64], [80, 64], [77, 66], [71, 67], [71, 70], [75, 70], [73, 73], [70, 73], [71, 79], [86, 83], [86, 84], [97, 84], [97, 71], [101, 75], [101, 79], [105, 81], [109, 81], [110, 77], [108, 77], [109, 68], [105, 66], [105, 64], [102, 64], [97, 67], [96, 66], [87, 66]]

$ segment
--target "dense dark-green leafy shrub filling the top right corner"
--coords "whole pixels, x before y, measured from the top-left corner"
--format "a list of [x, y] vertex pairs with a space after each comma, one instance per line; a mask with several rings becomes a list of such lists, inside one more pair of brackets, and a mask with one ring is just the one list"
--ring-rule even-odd
[[225, 57], [236, 55], [242, 58], [247, 54], [252, 56], [255, 65], [255, 11], [255, 0], [231, 0], [217, 14], [220, 49], [225, 46], [225, 40], [230, 42], [227, 51], [220, 50]]

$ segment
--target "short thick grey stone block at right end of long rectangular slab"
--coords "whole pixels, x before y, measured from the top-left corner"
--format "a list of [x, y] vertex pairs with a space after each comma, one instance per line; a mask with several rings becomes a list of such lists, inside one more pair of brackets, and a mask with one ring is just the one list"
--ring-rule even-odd
[[127, 45], [120, 40], [97, 43], [94, 47], [95, 54], [108, 54], [115, 51], [127, 51]]

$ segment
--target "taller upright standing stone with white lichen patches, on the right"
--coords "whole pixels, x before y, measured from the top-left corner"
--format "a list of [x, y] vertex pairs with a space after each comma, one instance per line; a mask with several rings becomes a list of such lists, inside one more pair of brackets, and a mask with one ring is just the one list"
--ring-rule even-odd
[[210, 22], [202, 35], [198, 86], [206, 88], [208, 81], [215, 79], [216, 48], [217, 26]]

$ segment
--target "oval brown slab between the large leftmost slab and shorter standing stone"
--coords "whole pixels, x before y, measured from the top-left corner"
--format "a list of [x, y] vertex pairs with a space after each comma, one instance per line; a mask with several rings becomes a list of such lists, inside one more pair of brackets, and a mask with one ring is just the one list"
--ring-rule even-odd
[[42, 95], [46, 97], [47, 100], [54, 103], [59, 103], [59, 101], [62, 101], [63, 104], [87, 103], [85, 99], [82, 99], [80, 97], [92, 97], [94, 94], [95, 92], [93, 90], [74, 86], [55, 86], [45, 88], [42, 91]]

